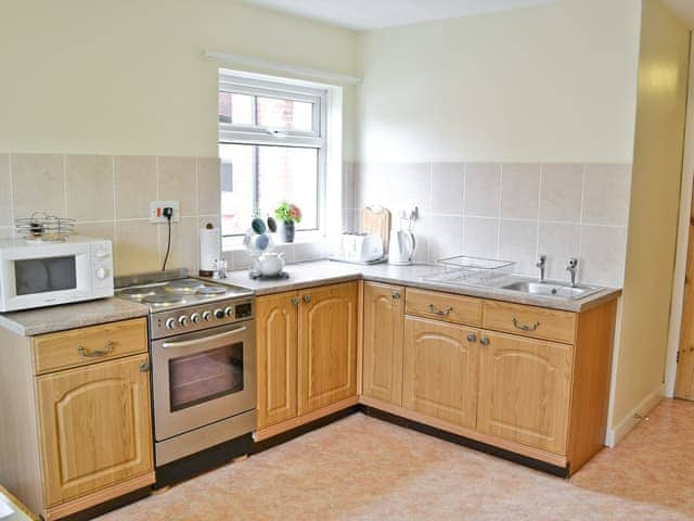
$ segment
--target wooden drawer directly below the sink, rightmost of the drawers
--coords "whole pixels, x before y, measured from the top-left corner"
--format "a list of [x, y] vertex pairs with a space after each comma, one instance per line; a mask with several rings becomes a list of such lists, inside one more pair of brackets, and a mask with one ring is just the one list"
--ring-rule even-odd
[[486, 301], [484, 326], [497, 331], [573, 344], [576, 334], [576, 314]]

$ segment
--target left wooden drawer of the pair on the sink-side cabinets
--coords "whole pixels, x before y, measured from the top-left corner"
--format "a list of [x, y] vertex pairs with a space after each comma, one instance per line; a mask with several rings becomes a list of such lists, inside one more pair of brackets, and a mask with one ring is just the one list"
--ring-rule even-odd
[[404, 310], [408, 315], [454, 323], [481, 325], [479, 298], [424, 290], [407, 290]]

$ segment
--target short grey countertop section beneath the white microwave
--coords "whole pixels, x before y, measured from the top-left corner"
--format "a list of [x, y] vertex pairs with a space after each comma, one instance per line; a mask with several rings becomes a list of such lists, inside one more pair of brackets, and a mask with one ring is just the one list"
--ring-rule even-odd
[[0, 327], [22, 336], [34, 336], [146, 316], [147, 306], [112, 296], [26, 312], [0, 313]]

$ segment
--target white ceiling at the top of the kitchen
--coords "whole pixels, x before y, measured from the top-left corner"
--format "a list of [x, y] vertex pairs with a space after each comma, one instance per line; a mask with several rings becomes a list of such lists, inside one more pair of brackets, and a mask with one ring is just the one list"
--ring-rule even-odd
[[[348, 29], [369, 30], [433, 20], [504, 11], [556, 0], [245, 0], [248, 3], [319, 20]], [[692, 0], [684, 0], [691, 2]]]

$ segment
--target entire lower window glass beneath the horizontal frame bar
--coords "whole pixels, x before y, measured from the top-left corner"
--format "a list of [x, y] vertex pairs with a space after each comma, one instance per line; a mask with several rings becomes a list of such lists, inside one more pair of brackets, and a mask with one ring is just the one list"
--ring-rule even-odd
[[301, 208], [297, 229], [318, 228], [317, 149], [220, 144], [219, 152], [222, 234], [242, 234], [249, 228], [256, 178], [257, 215], [274, 215], [274, 208], [286, 201]]

